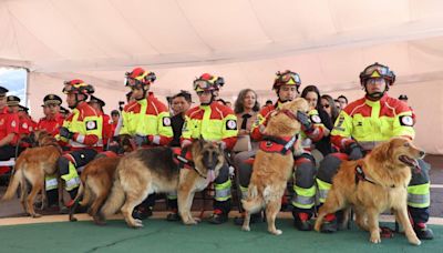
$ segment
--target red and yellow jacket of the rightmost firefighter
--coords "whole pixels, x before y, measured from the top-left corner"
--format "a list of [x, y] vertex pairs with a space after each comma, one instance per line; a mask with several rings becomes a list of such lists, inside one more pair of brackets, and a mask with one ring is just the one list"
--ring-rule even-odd
[[339, 114], [331, 133], [331, 142], [344, 150], [357, 141], [364, 150], [393, 136], [413, 139], [412, 110], [398, 99], [384, 94], [379, 101], [359, 99]]

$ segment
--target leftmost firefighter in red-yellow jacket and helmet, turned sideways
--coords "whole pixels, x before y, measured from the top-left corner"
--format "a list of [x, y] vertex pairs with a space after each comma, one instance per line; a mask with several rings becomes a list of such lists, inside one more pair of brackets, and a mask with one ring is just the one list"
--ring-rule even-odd
[[[103, 150], [103, 119], [100, 112], [86, 103], [86, 99], [94, 93], [91, 84], [82, 80], [68, 81], [64, 83], [63, 93], [66, 94], [66, 103], [72, 113], [63, 121], [56, 138], [64, 142], [71, 152], [59, 159], [58, 166], [66, 191], [71, 199], [74, 199], [80, 183], [76, 169], [86, 165]], [[47, 180], [47, 183], [51, 182]]]

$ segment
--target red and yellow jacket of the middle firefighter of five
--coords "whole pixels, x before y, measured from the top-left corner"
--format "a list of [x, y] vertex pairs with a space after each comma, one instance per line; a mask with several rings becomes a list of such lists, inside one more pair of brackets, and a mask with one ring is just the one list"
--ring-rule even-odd
[[234, 111], [218, 102], [199, 105], [187, 111], [183, 125], [182, 145], [203, 138], [206, 141], [222, 141], [224, 148], [231, 150], [237, 142], [237, 117]]

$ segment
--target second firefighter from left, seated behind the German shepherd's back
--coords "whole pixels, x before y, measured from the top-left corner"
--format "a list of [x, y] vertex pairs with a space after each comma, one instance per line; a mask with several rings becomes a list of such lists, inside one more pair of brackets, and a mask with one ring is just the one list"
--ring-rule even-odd
[[[130, 134], [137, 146], [152, 148], [167, 145], [173, 140], [173, 129], [167, 107], [150, 92], [155, 81], [154, 72], [135, 68], [126, 73], [125, 85], [131, 88], [132, 98], [122, 112], [122, 129], [120, 134]], [[151, 194], [134, 209], [135, 219], [146, 219], [152, 215], [155, 195]]]

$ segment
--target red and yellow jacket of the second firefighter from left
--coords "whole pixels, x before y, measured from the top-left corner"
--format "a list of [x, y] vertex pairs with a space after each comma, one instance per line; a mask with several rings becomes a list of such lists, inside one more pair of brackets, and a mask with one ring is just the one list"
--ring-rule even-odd
[[122, 112], [122, 119], [120, 134], [147, 136], [157, 145], [167, 145], [173, 140], [169, 112], [153, 94], [128, 103]]

